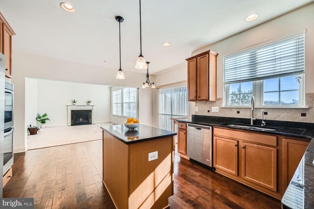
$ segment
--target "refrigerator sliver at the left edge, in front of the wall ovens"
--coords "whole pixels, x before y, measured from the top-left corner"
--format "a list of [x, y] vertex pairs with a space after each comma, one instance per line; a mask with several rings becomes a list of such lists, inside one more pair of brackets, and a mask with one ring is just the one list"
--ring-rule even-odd
[[[4, 143], [4, 82], [5, 82], [5, 59], [0, 53], [0, 174], [3, 175], [3, 143]], [[1, 177], [2, 178], [2, 177]], [[0, 181], [0, 197], [2, 197], [3, 182]]]

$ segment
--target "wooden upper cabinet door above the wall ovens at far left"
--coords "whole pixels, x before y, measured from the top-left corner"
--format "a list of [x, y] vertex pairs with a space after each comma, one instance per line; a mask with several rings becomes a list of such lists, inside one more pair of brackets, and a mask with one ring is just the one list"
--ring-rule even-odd
[[5, 56], [5, 76], [11, 77], [11, 35], [5, 25], [3, 25], [3, 51]]

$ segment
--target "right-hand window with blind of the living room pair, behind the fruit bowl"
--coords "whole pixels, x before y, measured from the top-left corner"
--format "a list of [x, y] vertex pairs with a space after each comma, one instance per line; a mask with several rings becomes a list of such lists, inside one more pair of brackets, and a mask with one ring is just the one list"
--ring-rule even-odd
[[136, 88], [123, 89], [123, 116], [136, 118]]

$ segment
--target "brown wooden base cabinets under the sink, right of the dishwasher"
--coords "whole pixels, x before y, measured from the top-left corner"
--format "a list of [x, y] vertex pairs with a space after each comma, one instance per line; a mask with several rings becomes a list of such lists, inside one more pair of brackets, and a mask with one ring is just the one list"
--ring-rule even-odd
[[213, 166], [218, 173], [281, 199], [309, 142], [214, 127]]

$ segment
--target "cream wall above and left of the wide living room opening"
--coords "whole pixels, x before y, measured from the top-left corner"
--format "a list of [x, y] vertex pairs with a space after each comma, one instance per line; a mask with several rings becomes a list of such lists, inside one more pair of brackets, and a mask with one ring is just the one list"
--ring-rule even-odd
[[[19, 34], [17, 34], [18, 36]], [[21, 34], [23, 35], [23, 34]], [[75, 63], [48, 57], [19, 53], [14, 50], [13, 37], [12, 53], [12, 83], [14, 87], [14, 151], [27, 150], [26, 143], [26, 100], [25, 80], [29, 78], [70, 81], [106, 86], [140, 87], [146, 80], [143, 73], [125, 71], [125, 80], [115, 79], [117, 70]], [[153, 77], [153, 76], [152, 76]], [[148, 116], [149, 117], [149, 116]], [[153, 117], [153, 116], [151, 116]]]

